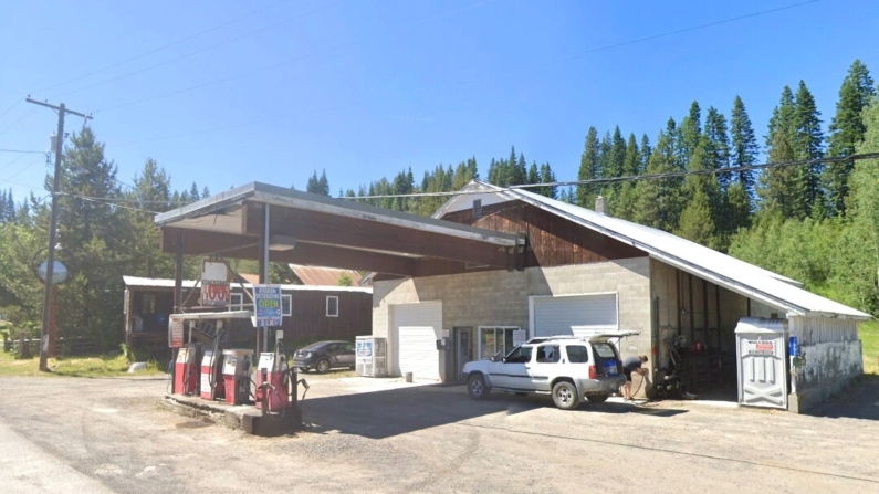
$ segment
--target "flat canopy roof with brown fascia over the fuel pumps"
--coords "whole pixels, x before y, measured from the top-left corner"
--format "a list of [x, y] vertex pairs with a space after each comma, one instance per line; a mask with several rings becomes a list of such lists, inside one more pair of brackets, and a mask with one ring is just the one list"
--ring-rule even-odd
[[180, 242], [186, 255], [261, 259], [266, 207], [273, 262], [414, 275], [427, 259], [509, 267], [522, 242], [511, 233], [252, 182], [157, 214], [161, 248], [176, 252]]

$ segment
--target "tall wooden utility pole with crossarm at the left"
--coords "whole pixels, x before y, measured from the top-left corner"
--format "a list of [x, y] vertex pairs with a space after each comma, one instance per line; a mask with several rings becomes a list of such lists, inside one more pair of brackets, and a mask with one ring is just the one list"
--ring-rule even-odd
[[92, 118], [91, 115], [85, 115], [79, 112], [73, 112], [64, 107], [64, 104], [57, 106], [50, 105], [49, 103], [38, 102], [35, 99], [27, 98], [28, 103], [45, 106], [57, 112], [57, 134], [55, 134], [55, 175], [52, 177], [52, 213], [49, 221], [49, 254], [46, 254], [45, 265], [45, 291], [43, 292], [43, 327], [40, 332], [40, 370], [49, 371], [48, 354], [49, 354], [49, 327], [52, 324], [52, 294], [54, 293], [52, 286], [55, 282], [55, 243], [57, 241], [55, 230], [57, 230], [57, 188], [61, 180], [61, 153], [64, 148], [64, 115], [71, 114], [83, 117], [85, 119]]

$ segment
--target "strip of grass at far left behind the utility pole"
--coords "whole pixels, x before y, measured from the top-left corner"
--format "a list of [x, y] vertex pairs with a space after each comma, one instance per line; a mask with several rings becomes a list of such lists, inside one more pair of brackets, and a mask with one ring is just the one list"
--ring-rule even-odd
[[[67, 376], [67, 377], [116, 377], [132, 376], [128, 374], [128, 359], [125, 355], [101, 355], [94, 357], [50, 358], [49, 368], [53, 372], [40, 372], [40, 358], [15, 359], [13, 354], [0, 353], [0, 376]], [[147, 369], [136, 372], [138, 376], [159, 374], [157, 365], [150, 364]]]

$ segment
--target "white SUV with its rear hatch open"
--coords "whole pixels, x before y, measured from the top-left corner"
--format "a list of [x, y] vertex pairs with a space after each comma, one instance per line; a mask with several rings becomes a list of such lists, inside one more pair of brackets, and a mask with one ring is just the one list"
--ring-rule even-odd
[[552, 395], [562, 410], [574, 410], [584, 399], [601, 403], [626, 383], [614, 340], [637, 334], [533, 338], [506, 356], [464, 364], [467, 390], [474, 400], [488, 398], [492, 389]]

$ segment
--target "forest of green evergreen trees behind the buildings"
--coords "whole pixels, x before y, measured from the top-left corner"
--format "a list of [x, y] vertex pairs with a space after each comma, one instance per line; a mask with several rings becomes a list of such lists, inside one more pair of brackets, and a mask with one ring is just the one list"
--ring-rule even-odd
[[[535, 185], [531, 190], [537, 193], [585, 208], [601, 195], [615, 217], [728, 252], [879, 314], [879, 160], [817, 160], [879, 151], [879, 102], [868, 69], [855, 61], [845, 74], [826, 133], [804, 81], [795, 90], [781, 90], [762, 138], [745, 103], [734, 95], [731, 101], [729, 117], [693, 102], [679, 120], [669, 118], [653, 140], [647, 134], [626, 136], [618, 126], [604, 133], [588, 128], [576, 177], [586, 183], [543, 186], [556, 181], [551, 165], [529, 165], [515, 147], [490, 160], [484, 180], [502, 187]], [[813, 161], [761, 172], [736, 170], [798, 160]], [[97, 336], [112, 347], [122, 340], [122, 275], [174, 276], [172, 257], [159, 252], [154, 214], [210, 192], [196, 183], [174, 190], [168, 172], [151, 159], [132, 186], [125, 185], [88, 127], [72, 135], [63, 170], [59, 255], [75, 269], [59, 290], [62, 332]], [[716, 172], [595, 181], [698, 170]], [[473, 157], [425, 170], [420, 181], [409, 167], [338, 196], [430, 216], [447, 198], [409, 195], [456, 191], [472, 179], [480, 179]], [[50, 183], [46, 177], [48, 190]], [[326, 170], [320, 176], [313, 171], [306, 191], [331, 195]], [[375, 196], [379, 198], [366, 198]], [[0, 192], [0, 314], [20, 328], [39, 327], [42, 286], [32, 269], [34, 255], [44, 251], [48, 223], [46, 201], [32, 195], [17, 203], [11, 190]], [[278, 281], [285, 277], [282, 266], [272, 273]], [[186, 275], [197, 275], [196, 261]]]

